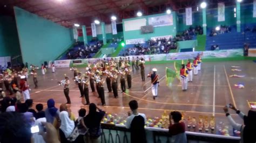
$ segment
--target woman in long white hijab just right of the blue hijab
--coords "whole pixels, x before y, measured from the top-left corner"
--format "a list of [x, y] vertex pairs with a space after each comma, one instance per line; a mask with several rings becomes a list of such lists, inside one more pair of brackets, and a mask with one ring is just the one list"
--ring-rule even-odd
[[75, 128], [74, 121], [69, 119], [69, 113], [67, 111], [62, 111], [59, 113], [60, 119], [60, 127], [59, 127], [59, 137], [60, 142], [68, 143], [69, 141], [67, 138], [72, 133], [73, 129]]

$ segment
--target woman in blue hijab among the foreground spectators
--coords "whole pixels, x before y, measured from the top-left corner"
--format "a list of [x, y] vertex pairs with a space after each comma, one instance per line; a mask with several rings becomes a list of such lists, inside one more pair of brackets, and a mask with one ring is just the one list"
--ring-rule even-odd
[[45, 110], [45, 118], [48, 123], [53, 124], [55, 117], [59, 116], [59, 110], [55, 107], [55, 101], [53, 99], [49, 99], [47, 101], [48, 108]]

